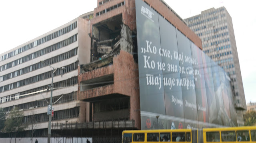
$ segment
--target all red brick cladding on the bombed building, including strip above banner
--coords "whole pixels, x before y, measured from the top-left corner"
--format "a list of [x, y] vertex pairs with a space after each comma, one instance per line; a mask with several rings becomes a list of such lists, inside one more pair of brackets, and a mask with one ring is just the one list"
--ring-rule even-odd
[[[179, 29], [186, 37], [193, 41], [200, 49], [202, 43], [200, 38], [184, 24], [171, 10], [169, 10], [160, 0], [144, 0], [156, 11], [158, 11], [164, 18], [171, 22], [177, 29]], [[104, 4], [99, 5], [94, 9], [94, 18], [91, 20], [91, 31], [94, 24], [98, 24], [104, 20], [108, 20], [114, 16], [122, 14], [122, 23], [127, 25], [130, 30], [136, 30], [136, 9], [135, 0], [125, 0], [125, 5], [122, 5], [114, 10], [108, 11], [104, 14], [99, 14], [106, 8], [110, 8], [124, 2], [124, 0], [110, 0]], [[85, 91], [80, 91], [80, 82], [99, 78], [106, 75], [114, 75], [114, 83], [105, 86], [100, 86]], [[130, 120], [135, 120], [136, 128], [140, 129], [140, 91], [138, 78], [138, 63], [134, 61], [133, 55], [126, 51], [120, 51], [119, 55], [113, 57], [113, 65], [94, 69], [92, 71], [80, 73], [78, 67], [78, 100], [86, 100], [110, 94], [122, 94], [130, 96]], [[102, 81], [104, 82], [104, 81]]]

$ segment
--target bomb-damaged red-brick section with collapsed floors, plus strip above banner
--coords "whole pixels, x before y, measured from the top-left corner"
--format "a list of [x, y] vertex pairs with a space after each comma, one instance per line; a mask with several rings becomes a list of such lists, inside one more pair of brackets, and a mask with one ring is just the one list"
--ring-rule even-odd
[[[202, 47], [200, 39], [162, 0], [144, 2], [159, 6], [155, 10]], [[104, 122], [110, 121], [111, 131], [118, 133], [111, 138], [119, 141], [122, 130], [142, 128], [135, 15], [135, 0], [98, 0], [89, 33], [91, 62], [78, 67], [78, 100], [87, 103], [86, 121], [97, 123], [102, 130]]]

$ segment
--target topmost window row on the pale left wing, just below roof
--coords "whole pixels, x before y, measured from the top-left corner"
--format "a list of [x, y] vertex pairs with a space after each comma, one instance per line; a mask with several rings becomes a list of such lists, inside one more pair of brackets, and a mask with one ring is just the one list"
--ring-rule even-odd
[[77, 22], [74, 22], [73, 24], [71, 24], [71, 25], [69, 25], [69, 26], [67, 26], [65, 28], [62, 28], [59, 31], [56, 31], [56, 32], [54, 32], [54, 33], [52, 33], [50, 35], [47, 35], [47, 36], [37, 40], [37, 41], [34, 41], [33, 43], [29, 43], [28, 45], [25, 45], [25, 46], [15, 50], [15, 51], [12, 51], [12, 52], [10, 52], [10, 53], [8, 53], [6, 55], [3, 55], [1, 57], [1, 59], [0, 59], [0, 61], [3, 61], [3, 60], [8, 59], [10, 57], [13, 57], [14, 55], [17, 55], [19, 53], [22, 53], [22, 52], [28, 50], [28, 49], [36, 47], [37, 45], [40, 45], [42, 43], [50, 41], [51, 39], [54, 39], [54, 38], [59, 37], [61, 35], [64, 35], [64, 34], [68, 33], [69, 31], [75, 29], [76, 27], [77, 27]]

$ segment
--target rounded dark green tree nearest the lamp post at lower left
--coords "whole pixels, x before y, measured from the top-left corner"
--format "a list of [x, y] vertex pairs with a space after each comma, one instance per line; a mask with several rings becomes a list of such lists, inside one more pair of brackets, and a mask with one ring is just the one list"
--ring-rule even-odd
[[23, 113], [18, 108], [12, 110], [4, 122], [4, 131], [7, 133], [23, 131], [25, 129], [25, 125], [22, 122], [23, 117]]

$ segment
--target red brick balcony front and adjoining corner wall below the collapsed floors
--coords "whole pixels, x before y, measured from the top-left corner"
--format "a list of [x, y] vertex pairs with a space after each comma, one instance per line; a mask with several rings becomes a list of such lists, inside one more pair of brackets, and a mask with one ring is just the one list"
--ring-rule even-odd
[[[80, 67], [78, 67], [78, 72], [78, 100], [109, 94], [130, 96], [130, 120], [135, 120], [135, 127], [140, 128], [138, 64], [130, 53], [121, 50], [120, 55], [114, 57], [113, 65], [85, 73], [80, 73]], [[80, 91], [80, 82], [108, 74], [114, 74], [114, 84]]]

